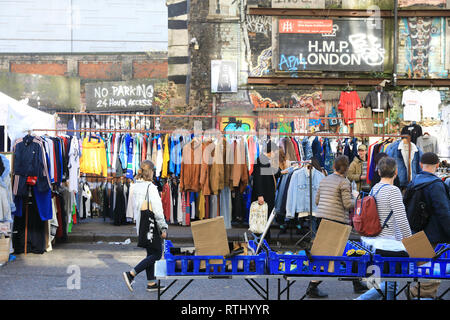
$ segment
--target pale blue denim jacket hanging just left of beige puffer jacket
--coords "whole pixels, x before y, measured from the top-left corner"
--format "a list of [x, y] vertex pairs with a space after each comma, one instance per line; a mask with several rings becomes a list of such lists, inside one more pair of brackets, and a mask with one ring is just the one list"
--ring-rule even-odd
[[[309, 192], [309, 169], [302, 168], [292, 174], [291, 182], [289, 184], [287, 201], [286, 201], [286, 217], [294, 218], [296, 213], [309, 212], [310, 209], [310, 192]], [[320, 181], [325, 175], [316, 170], [312, 170], [312, 211], [317, 210], [317, 205], [314, 201], [317, 190], [319, 189]]]

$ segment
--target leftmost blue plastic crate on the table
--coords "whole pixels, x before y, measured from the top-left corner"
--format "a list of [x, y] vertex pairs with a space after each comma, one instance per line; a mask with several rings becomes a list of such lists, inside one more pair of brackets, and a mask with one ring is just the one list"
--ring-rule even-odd
[[[253, 240], [249, 245], [256, 250]], [[201, 275], [263, 275], [266, 271], [267, 254], [264, 250], [253, 256], [234, 256], [223, 259], [223, 256], [178, 256], [170, 253], [173, 244], [166, 240], [164, 257], [167, 263], [168, 276], [201, 276]], [[222, 263], [214, 264], [210, 260], [219, 259]], [[203, 264], [201, 268], [201, 264]]]

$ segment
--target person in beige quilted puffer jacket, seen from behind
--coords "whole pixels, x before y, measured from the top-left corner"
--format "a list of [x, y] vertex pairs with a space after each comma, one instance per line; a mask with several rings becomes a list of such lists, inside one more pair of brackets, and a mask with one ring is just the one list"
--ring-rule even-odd
[[[334, 172], [320, 181], [319, 190], [316, 195], [316, 224], [322, 219], [350, 224], [348, 211], [353, 208], [354, 201], [351, 194], [350, 181], [346, 178], [349, 167], [347, 156], [339, 156], [333, 164]], [[322, 292], [318, 285], [321, 281], [311, 281], [309, 283], [307, 294], [310, 298], [325, 298], [328, 294]], [[362, 293], [368, 288], [358, 280], [353, 281], [353, 291]]]

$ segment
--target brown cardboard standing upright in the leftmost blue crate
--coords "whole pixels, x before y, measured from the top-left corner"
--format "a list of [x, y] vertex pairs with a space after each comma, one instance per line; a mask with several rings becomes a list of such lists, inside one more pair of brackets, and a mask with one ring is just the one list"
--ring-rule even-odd
[[[196, 256], [224, 256], [230, 253], [223, 217], [194, 221], [191, 232]], [[211, 259], [209, 263], [221, 264], [223, 260]], [[201, 263], [201, 268], [204, 265]]]

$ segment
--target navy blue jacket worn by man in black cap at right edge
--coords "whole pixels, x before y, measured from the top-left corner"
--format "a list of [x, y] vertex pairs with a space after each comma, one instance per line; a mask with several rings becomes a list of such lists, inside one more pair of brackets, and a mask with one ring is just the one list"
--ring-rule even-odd
[[[421, 184], [440, 180], [432, 173], [423, 171], [414, 177], [411, 184], [414, 187]], [[431, 208], [431, 218], [425, 227], [425, 234], [431, 243], [449, 243], [450, 242], [450, 197], [447, 194], [444, 183], [439, 181], [430, 184], [424, 188], [427, 208]]]

